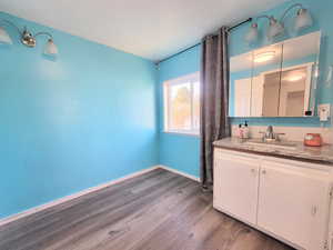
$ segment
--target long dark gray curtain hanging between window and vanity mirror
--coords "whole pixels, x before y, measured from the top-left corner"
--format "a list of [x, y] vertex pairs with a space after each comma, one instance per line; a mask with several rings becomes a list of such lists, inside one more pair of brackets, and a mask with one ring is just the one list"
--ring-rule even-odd
[[228, 28], [218, 36], [208, 36], [202, 42], [201, 57], [201, 183], [213, 184], [212, 142], [230, 137]]

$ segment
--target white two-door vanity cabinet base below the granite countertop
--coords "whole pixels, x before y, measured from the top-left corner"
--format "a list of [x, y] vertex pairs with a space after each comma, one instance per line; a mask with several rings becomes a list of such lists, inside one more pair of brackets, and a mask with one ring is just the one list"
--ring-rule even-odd
[[214, 208], [294, 248], [329, 249], [332, 170], [215, 148]]

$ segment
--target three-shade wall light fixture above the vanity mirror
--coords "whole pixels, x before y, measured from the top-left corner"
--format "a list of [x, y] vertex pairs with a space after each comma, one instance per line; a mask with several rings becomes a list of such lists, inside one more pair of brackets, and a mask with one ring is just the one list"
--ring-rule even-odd
[[[273, 16], [260, 16], [256, 18], [256, 21], [261, 18], [265, 18], [269, 20], [269, 28], [266, 30], [266, 37], [272, 40], [275, 37], [279, 37], [284, 33], [284, 19], [286, 14], [294, 8], [299, 8], [296, 12], [296, 17], [294, 20], [294, 29], [296, 31], [311, 27], [312, 26], [312, 17], [307, 9], [303, 8], [301, 3], [295, 3], [287, 8], [284, 13], [282, 14], [282, 18], [280, 20], [276, 20]], [[258, 22], [253, 22], [245, 34], [245, 40], [249, 43], [253, 43], [258, 41], [259, 39], [259, 30], [258, 30]]]

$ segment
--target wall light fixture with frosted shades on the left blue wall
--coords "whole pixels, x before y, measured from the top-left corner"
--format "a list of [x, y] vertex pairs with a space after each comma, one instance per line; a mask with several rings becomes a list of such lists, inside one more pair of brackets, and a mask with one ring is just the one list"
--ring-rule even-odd
[[[11, 21], [8, 21], [6, 19], [0, 19], [0, 24], [1, 23], [4, 23], [4, 24], [13, 27], [19, 32], [20, 40], [21, 40], [22, 44], [24, 44], [24, 46], [27, 46], [29, 48], [34, 48], [36, 47], [36, 43], [37, 43], [36, 38], [37, 37], [39, 37], [39, 36], [47, 36], [47, 37], [49, 37], [49, 40], [48, 40], [48, 42], [46, 44], [46, 48], [44, 48], [44, 54], [49, 54], [49, 56], [56, 56], [56, 54], [58, 54], [58, 48], [57, 48], [57, 46], [53, 42], [53, 37], [52, 37], [51, 33], [49, 33], [49, 32], [38, 32], [36, 34], [32, 34], [27, 29], [27, 27], [24, 27], [24, 29], [21, 30], [14, 23], [12, 23]], [[2, 26], [0, 26], [0, 43], [12, 44], [11, 38], [9, 37], [8, 32], [6, 31], [6, 29]]]

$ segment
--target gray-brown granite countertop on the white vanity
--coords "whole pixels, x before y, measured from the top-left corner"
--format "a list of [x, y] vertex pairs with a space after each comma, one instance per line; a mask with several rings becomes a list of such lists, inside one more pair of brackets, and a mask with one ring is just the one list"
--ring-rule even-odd
[[[239, 138], [225, 138], [219, 141], [214, 141], [213, 146], [223, 149], [253, 152], [264, 156], [273, 156], [293, 160], [302, 160], [314, 163], [330, 164], [333, 167], [333, 146], [324, 144], [322, 147], [306, 147], [303, 142], [287, 142], [293, 143], [295, 147], [289, 148], [274, 148], [270, 146], [262, 144], [250, 144], [248, 141], [253, 141], [254, 139], [239, 139]], [[259, 139], [256, 139], [259, 141]], [[255, 141], [255, 140], [254, 140]]]

